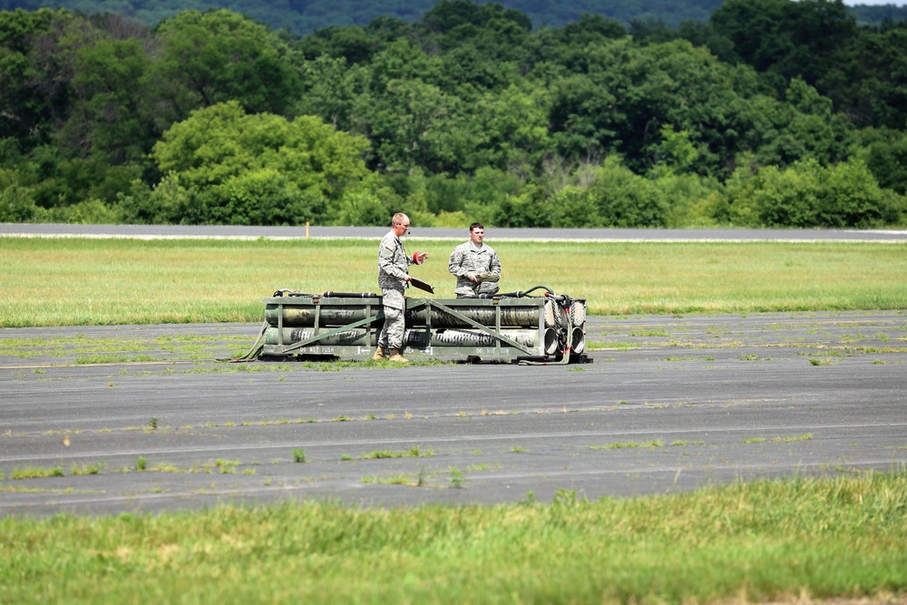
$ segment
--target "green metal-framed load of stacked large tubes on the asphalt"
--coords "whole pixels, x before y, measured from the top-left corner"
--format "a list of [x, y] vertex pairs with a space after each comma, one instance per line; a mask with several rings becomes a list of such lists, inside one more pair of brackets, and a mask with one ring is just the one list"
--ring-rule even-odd
[[[531, 296], [544, 290], [541, 296]], [[406, 298], [405, 353], [414, 360], [463, 356], [521, 365], [590, 363], [586, 301], [551, 288], [483, 298]], [[251, 359], [367, 358], [384, 323], [372, 292], [307, 294], [282, 289], [265, 298], [265, 323]]]

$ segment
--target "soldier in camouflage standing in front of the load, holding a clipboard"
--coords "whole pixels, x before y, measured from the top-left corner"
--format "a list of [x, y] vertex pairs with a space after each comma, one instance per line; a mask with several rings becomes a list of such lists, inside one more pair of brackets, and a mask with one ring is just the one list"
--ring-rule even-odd
[[409, 217], [397, 212], [391, 223], [391, 230], [381, 239], [378, 247], [378, 287], [381, 288], [385, 310], [385, 325], [378, 336], [378, 347], [372, 359], [385, 359], [399, 364], [409, 360], [400, 355], [403, 349], [406, 322], [404, 318], [404, 288], [409, 277], [410, 265], [421, 265], [428, 258], [427, 252], [416, 252], [412, 257], [406, 254], [400, 236], [409, 229]]

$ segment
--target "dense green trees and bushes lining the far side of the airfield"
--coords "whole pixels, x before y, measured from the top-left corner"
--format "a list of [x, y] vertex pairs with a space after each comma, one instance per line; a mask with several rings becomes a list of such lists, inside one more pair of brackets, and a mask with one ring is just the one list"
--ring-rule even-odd
[[294, 37], [0, 12], [0, 220], [902, 225], [907, 24], [840, 0], [562, 27], [443, 0]]

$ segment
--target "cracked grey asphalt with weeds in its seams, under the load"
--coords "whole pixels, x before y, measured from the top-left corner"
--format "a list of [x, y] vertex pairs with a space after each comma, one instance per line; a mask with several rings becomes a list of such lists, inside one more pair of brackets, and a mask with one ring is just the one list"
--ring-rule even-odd
[[0, 330], [0, 515], [591, 500], [907, 463], [903, 311], [590, 317], [593, 363], [571, 366], [215, 360], [258, 329]]

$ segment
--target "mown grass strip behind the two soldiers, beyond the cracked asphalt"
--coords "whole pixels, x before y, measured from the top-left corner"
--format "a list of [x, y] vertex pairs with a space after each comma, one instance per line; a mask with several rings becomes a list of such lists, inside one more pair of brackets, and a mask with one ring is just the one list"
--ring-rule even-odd
[[[494, 246], [502, 291], [547, 286], [586, 298], [591, 314], [907, 308], [902, 244]], [[430, 254], [412, 274], [453, 298], [453, 242], [408, 247]], [[375, 258], [368, 240], [0, 238], [0, 327], [256, 322], [279, 288], [377, 291]]]

